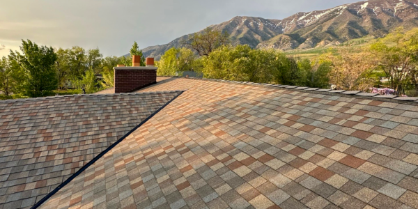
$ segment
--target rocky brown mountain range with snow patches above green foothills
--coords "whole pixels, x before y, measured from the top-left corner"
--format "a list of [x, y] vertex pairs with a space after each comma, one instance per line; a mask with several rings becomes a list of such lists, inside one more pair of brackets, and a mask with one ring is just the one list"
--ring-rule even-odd
[[[228, 32], [233, 45], [288, 50], [339, 45], [364, 36], [382, 37], [398, 26], [418, 26], [418, 0], [359, 1], [296, 13], [283, 20], [238, 16], [210, 27]], [[142, 51], [145, 56], [159, 59], [171, 47], [181, 47], [180, 41], [190, 35]]]

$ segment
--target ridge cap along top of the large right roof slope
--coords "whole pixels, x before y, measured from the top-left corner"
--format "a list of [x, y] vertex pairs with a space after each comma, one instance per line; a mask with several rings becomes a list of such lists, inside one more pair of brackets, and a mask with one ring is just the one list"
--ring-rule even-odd
[[408, 102], [408, 104], [418, 104], [418, 97], [402, 97], [397, 95], [380, 95], [378, 93], [368, 93], [364, 91], [346, 91], [346, 90], [332, 90], [332, 89], [325, 89], [325, 88], [311, 88], [307, 86], [289, 86], [289, 85], [281, 85], [281, 84], [266, 84], [266, 83], [254, 83], [254, 82], [237, 82], [237, 81], [229, 81], [223, 79], [207, 79], [207, 78], [195, 78], [189, 77], [189, 79], [203, 79], [209, 80], [214, 82], [227, 82], [233, 84], [247, 84], [253, 86], [265, 86], [265, 87], [275, 87], [275, 88], [287, 88], [289, 90], [293, 89], [295, 91], [302, 91], [302, 92], [312, 92], [318, 94], [327, 94], [327, 95], [343, 95], [343, 96], [356, 96], [358, 98], [364, 99], [371, 99], [371, 100], [380, 100], [385, 102]]

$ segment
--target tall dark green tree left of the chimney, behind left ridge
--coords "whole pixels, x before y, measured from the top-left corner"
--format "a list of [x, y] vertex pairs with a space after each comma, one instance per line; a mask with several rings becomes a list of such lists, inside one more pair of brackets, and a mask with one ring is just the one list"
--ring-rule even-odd
[[52, 47], [38, 46], [22, 40], [20, 52], [10, 51], [9, 59], [16, 61], [24, 72], [22, 94], [30, 97], [50, 95], [58, 86], [54, 63], [57, 59]]

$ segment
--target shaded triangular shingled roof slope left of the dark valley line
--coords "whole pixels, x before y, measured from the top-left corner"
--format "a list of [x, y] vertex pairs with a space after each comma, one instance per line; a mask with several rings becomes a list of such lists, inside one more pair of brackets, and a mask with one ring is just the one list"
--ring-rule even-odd
[[179, 92], [0, 102], [0, 208], [33, 206]]

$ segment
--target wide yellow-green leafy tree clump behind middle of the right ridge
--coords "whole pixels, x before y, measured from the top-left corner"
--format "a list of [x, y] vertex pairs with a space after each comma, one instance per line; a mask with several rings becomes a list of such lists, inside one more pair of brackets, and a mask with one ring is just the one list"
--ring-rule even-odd
[[326, 87], [329, 64], [311, 65], [274, 49], [251, 49], [248, 45], [222, 46], [202, 56], [203, 75], [212, 79]]

